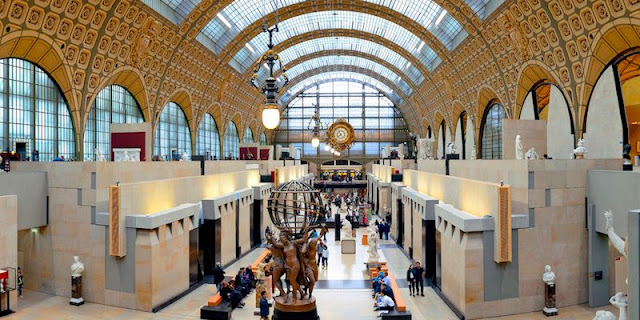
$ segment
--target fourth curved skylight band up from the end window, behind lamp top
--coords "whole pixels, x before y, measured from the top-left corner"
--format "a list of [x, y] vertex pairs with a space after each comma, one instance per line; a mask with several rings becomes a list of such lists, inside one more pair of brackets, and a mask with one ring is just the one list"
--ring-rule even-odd
[[[407, 48], [425, 66], [436, 59], [436, 53], [415, 34], [407, 29], [374, 15], [353, 11], [322, 11], [300, 15], [280, 22], [280, 32], [274, 33], [273, 41], [277, 45], [286, 39], [315, 30], [352, 29], [375, 34]], [[229, 62], [238, 72], [244, 73], [266, 51], [269, 36], [260, 33], [242, 47]], [[418, 47], [422, 47], [417, 50]], [[252, 52], [249, 48], [253, 48]]]

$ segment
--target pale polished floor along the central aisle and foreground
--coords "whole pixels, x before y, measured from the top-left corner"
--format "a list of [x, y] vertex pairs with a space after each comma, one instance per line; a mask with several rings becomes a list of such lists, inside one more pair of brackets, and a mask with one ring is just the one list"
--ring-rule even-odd
[[[358, 229], [358, 239], [364, 233], [364, 229]], [[376, 319], [373, 311], [371, 291], [363, 288], [368, 275], [364, 262], [367, 257], [366, 247], [359, 245], [355, 255], [340, 254], [340, 244], [333, 240], [331, 231], [327, 235], [330, 250], [329, 266], [320, 269], [319, 287], [314, 291], [317, 299], [318, 313], [321, 319], [349, 319], [370, 320]], [[358, 241], [360, 243], [360, 241]], [[381, 244], [392, 244], [391, 241], [382, 241]], [[235, 274], [240, 266], [249, 265], [261, 253], [257, 249], [229, 266], [227, 274]], [[397, 275], [403, 275], [409, 260], [397, 248], [384, 246], [381, 250], [387, 259], [389, 269]], [[398, 276], [402, 278], [403, 276]], [[457, 319], [455, 314], [447, 307], [440, 297], [430, 288], [425, 288], [424, 297], [410, 297], [408, 289], [400, 289], [403, 292], [407, 307], [413, 314], [413, 319]], [[25, 291], [24, 299], [20, 300], [18, 312], [6, 319], [199, 319], [200, 307], [207, 299], [215, 294], [214, 285], [205, 284], [194, 290], [184, 298], [173, 303], [162, 311], [152, 314], [141, 311], [109, 307], [105, 305], [86, 303], [80, 307], [70, 306], [68, 299], [51, 296], [34, 291]], [[233, 312], [233, 319], [259, 319], [255, 311], [255, 290], [245, 298], [246, 306]], [[613, 311], [611, 308], [607, 310]], [[616, 312], [617, 314], [617, 312]], [[595, 310], [587, 306], [574, 306], [560, 309], [558, 317], [553, 319], [585, 319], [591, 320]], [[547, 319], [540, 312], [522, 314], [500, 319]]]

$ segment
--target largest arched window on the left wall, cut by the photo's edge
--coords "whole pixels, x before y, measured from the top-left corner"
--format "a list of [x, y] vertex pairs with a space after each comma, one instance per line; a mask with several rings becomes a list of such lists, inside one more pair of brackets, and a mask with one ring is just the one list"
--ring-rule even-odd
[[58, 85], [35, 64], [0, 59], [0, 144], [21, 159], [40, 161], [75, 156], [75, 134], [69, 108]]

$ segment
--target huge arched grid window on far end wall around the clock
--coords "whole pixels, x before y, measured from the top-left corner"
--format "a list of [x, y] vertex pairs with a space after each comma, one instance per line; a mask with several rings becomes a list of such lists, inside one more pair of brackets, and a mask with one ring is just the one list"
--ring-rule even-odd
[[[343, 118], [353, 126], [355, 141], [351, 149], [342, 152], [345, 157], [378, 159], [387, 145], [398, 146], [408, 140], [409, 130], [402, 114], [382, 90], [338, 78], [310, 84], [298, 93], [283, 112], [273, 143], [300, 148], [304, 158], [333, 157], [325, 151], [324, 142], [319, 148], [311, 145], [313, 132], [307, 126], [316, 105], [322, 123]], [[320, 136], [324, 140], [325, 131]]]

